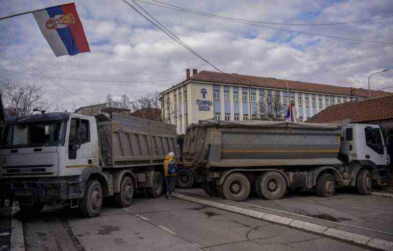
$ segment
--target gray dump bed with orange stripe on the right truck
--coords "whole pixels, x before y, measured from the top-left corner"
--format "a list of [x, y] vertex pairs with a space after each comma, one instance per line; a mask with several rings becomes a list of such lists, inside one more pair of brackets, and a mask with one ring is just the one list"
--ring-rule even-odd
[[281, 121], [202, 120], [187, 128], [190, 168], [342, 164], [340, 125]]

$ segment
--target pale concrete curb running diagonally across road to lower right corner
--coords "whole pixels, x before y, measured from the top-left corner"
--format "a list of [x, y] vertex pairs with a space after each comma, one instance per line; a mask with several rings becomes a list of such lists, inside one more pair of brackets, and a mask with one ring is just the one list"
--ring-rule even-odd
[[378, 248], [381, 250], [393, 250], [393, 242], [391, 241], [386, 241], [374, 237], [369, 237], [366, 235], [360, 235], [360, 234], [354, 234], [351, 232], [347, 231], [342, 231], [334, 228], [329, 228], [325, 227], [323, 225], [318, 225], [302, 220], [296, 220], [293, 218], [289, 217], [283, 217], [283, 216], [278, 216], [274, 214], [269, 214], [269, 213], [264, 213], [264, 212], [258, 212], [250, 209], [245, 209], [245, 208], [239, 208], [235, 206], [230, 206], [222, 203], [217, 203], [217, 202], [212, 202], [210, 200], [205, 200], [205, 199], [199, 199], [199, 198], [194, 198], [191, 196], [183, 195], [183, 194], [178, 194], [178, 193], [172, 193], [173, 196], [178, 197], [180, 199], [188, 200], [189, 202], [194, 202], [202, 205], [207, 205], [223, 210], [227, 210], [230, 212], [234, 213], [239, 213], [243, 215], [247, 215], [250, 217], [254, 217], [257, 219], [261, 220], [267, 220], [271, 221], [274, 223], [282, 224], [282, 225], [288, 225], [292, 228], [297, 228], [301, 230], [306, 230], [309, 232], [329, 236], [329, 237], [334, 237], [340, 240], [344, 241], [350, 241], [354, 242], [357, 244], [365, 245], [367, 247], [373, 247], [373, 248]]

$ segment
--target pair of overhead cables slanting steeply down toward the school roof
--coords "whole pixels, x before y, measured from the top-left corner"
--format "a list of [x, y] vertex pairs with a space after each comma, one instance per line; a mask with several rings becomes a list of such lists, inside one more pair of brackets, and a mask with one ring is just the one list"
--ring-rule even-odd
[[183, 42], [179, 37], [177, 37], [174, 33], [172, 33], [168, 28], [166, 28], [160, 21], [158, 21], [154, 16], [152, 16], [148, 11], [146, 11], [145, 9], [142, 8], [142, 6], [140, 6], [139, 4], [137, 4], [135, 2], [135, 0], [131, 0], [136, 6], [138, 6], [143, 12], [145, 12], [148, 16], [150, 16], [152, 19], [154, 19], [156, 22], [150, 20], [147, 16], [145, 16], [142, 12], [140, 12], [137, 8], [135, 8], [132, 4], [128, 3], [126, 0], [122, 0], [124, 3], [126, 3], [128, 6], [130, 6], [131, 8], [133, 8], [136, 12], [138, 12], [138, 14], [140, 14], [141, 16], [143, 16], [147, 21], [149, 21], [150, 23], [152, 23], [154, 26], [156, 26], [158, 29], [160, 29], [162, 32], [164, 32], [166, 35], [168, 35], [171, 39], [173, 39], [174, 41], [176, 41], [177, 43], [179, 43], [180, 45], [182, 45], [183, 47], [185, 47], [189, 52], [191, 52], [193, 55], [195, 55], [196, 57], [200, 58], [201, 60], [203, 60], [204, 62], [206, 62], [207, 64], [209, 64], [210, 66], [212, 66], [214, 69], [226, 74], [229, 78], [233, 79], [235, 82], [237, 82], [238, 84], [241, 84], [237, 79], [233, 78], [231, 76], [231, 74], [228, 74], [224, 71], [222, 71], [221, 69], [219, 69], [218, 67], [216, 67], [215, 65], [213, 65], [212, 63], [210, 63], [208, 60], [206, 60], [204, 57], [202, 57], [200, 54], [198, 54], [197, 52], [195, 52], [191, 47], [189, 47], [185, 42]]

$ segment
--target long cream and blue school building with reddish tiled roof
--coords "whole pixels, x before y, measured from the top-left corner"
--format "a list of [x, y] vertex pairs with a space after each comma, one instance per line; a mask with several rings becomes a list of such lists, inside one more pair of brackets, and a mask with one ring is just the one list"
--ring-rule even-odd
[[291, 101], [296, 121], [303, 122], [326, 107], [368, 95], [363, 89], [195, 69], [192, 76], [186, 72], [186, 80], [161, 92], [163, 120], [176, 124], [178, 134], [201, 119], [242, 121], [268, 115], [284, 120]]

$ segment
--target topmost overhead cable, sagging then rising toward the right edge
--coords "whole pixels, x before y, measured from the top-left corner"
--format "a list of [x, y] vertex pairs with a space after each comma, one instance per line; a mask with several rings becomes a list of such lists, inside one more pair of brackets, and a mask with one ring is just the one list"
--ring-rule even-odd
[[[141, 0], [136, 0], [136, 1], [142, 2], [142, 3], [146, 3], [146, 4], [161, 6], [161, 5], [157, 5], [157, 4], [153, 4], [153, 3], [148, 3], [148, 2], [145, 2], [145, 1], [141, 1]], [[161, 1], [157, 1], [157, 0], [151, 0], [151, 1], [154, 1], [154, 2], [156, 2], [156, 3], [163, 4], [163, 5], [171, 6], [171, 7], [174, 7], [174, 8], [179, 8], [179, 9], [188, 10], [188, 11], [194, 11], [194, 12], [203, 13], [203, 14], [208, 14], [208, 15], [216, 16], [216, 17], [223, 17], [223, 18], [228, 18], [228, 19], [233, 19], [233, 20], [238, 20], [238, 21], [246, 21], [246, 22], [256, 22], [256, 23], [266, 23], [266, 24], [278, 24], [278, 25], [283, 25], [283, 26], [334, 26], [334, 25], [338, 25], [338, 24], [351, 24], [351, 23], [359, 23], [359, 22], [369, 22], [369, 21], [374, 21], [374, 20], [380, 20], [380, 19], [385, 19], [385, 18], [393, 17], [393, 15], [389, 15], [389, 16], [375, 17], [375, 18], [369, 18], [369, 19], [364, 19], [364, 20], [347, 21], [347, 22], [330, 22], [330, 23], [285, 23], [285, 22], [267, 22], [267, 21], [253, 21], [253, 20], [247, 20], [247, 19], [242, 19], [242, 18], [234, 18], [234, 17], [220, 16], [220, 15], [215, 15], [215, 14], [211, 14], [211, 13], [204, 13], [204, 12], [200, 12], [200, 11], [196, 11], [196, 10], [192, 10], [192, 9], [187, 9], [187, 8], [180, 7], [180, 6], [176, 6], [176, 5], [171, 5], [171, 4], [168, 4], [168, 3], [165, 3], [165, 2], [161, 2]], [[161, 7], [163, 7], [163, 6], [161, 6]]]

